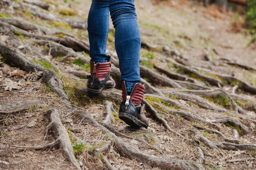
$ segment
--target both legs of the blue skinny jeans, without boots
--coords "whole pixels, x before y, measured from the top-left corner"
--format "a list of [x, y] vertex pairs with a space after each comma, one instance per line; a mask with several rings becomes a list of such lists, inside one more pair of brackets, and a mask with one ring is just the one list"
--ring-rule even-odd
[[107, 62], [109, 11], [115, 28], [115, 49], [119, 58], [121, 81], [126, 91], [140, 82], [139, 51], [140, 31], [134, 0], [92, 0], [88, 15], [90, 57], [92, 62]]

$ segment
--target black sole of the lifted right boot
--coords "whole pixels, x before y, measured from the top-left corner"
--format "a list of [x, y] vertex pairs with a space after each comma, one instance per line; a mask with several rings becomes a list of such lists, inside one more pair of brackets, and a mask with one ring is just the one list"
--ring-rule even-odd
[[137, 119], [136, 117], [129, 115], [128, 113], [120, 112], [119, 113], [119, 119], [126, 122], [126, 124], [130, 125], [132, 128], [148, 128], [146, 124], [144, 124], [142, 121]]

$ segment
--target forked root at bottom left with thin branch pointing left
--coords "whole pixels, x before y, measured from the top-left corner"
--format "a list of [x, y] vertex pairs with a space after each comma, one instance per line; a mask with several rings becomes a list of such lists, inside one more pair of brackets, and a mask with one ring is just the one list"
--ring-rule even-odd
[[47, 116], [49, 116], [50, 123], [47, 126], [47, 131], [51, 130], [56, 138], [55, 141], [46, 144], [44, 146], [16, 146], [18, 148], [28, 148], [28, 149], [45, 149], [53, 146], [59, 146], [61, 151], [67, 160], [69, 160], [78, 170], [81, 170], [79, 164], [76, 162], [74, 155], [74, 150], [71, 145], [70, 138], [68, 136], [66, 128], [61, 123], [58, 111], [56, 109], [47, 110]]

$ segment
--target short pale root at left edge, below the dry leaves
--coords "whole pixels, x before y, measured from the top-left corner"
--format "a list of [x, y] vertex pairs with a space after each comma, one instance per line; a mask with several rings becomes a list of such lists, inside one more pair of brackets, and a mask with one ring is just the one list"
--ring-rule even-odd
[[27, 110], [37, 104], [42, 104], [42, 100], [24, 100], [10, 104], [0, 104], [0, 113], [16, 113]]

